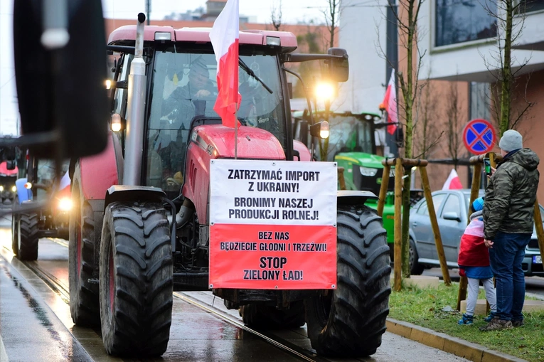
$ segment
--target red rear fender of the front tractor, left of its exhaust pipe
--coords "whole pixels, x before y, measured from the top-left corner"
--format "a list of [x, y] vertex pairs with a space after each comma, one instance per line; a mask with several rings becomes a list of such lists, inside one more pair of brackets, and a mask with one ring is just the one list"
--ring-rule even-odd
[[86, 200], [104, 200], [110, 186], [122, 179], [123, 159], [117, 136], [110, 132], [102, 153], [80, 159], [81, 188]]

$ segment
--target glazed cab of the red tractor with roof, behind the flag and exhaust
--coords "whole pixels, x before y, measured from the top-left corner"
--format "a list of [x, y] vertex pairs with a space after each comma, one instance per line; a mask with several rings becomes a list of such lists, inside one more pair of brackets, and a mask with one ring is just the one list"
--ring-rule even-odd
[[[147, 27], [146, 31], [148, 28], [151, 32], [153, 27]], [[174, 32], [175, 38], [191, 38], [202, 33], [188, 28], [176, 29]], [[118, 34], [118, 31], [112, 33], [112, 46], [126, 43], [120, 38], [117, 39]], [[156, 32], [154, 36], [156, 38], [165, 34], [171, 35]], [[248, 38], [254, 35], [256, 34], [245, 34]], [[283, 50], [279, 46], [248, 41], [240, 44], [238, 92], [241, 99], [237, 117], [240, 125], [262, 129], [274, 136], [278, 150], [276, 154], [269, 155], [274, 159], [285, 159], [285, 155], [292, 152], [287, 145], [287, 110], [282, 100], [282, 87], [285, 85], [280, 73], [279, 56]], [[133, 58], [132, 54], [121, 53], [117, 59], [115, 86], [126, 86]], [[208, 143], [197, 133], [191, 136], [193, 128], [198, 125], [211, 124], [216, 129], [221, 127], [220, 118], [213, 110], [218, 96], [217, 63], [209, 44], [202, 46], [196, 42], [144, 43], [144, 60], [149, 63], [146, 82], [150, 88], [150, 102], [145, 105], [146, 117], [142, 127], [144, 154], [139, 181], [144, 186], [161, 188], [170, 198], [176, 198], [186, 179], [184, 165], [191, 137], [210, 155], [217, 154], [218, 149], [225, 147], [225, 142], [229, 142], [221, 137], [217, 144]], [[250, 74], [257, 75], [262, 82]], [[114, 92], [113, 113], [118, 114], [119, 119], [127, 118], [128, 97], [126, 89], [117, 89]], [[124, 124], [119, 128], [116, 134], [119, 143], [124, 144], [127, 137]], [[246, 156], [262, 157], [257, 154]]]

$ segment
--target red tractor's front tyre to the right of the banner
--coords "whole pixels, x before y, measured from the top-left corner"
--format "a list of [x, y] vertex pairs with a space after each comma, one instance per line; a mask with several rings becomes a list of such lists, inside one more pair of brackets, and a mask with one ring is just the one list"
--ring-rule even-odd
[[305, 300], [317, 353], [370, 356], [382, 343], [389, 314], [391, 267], [382, 218], [367, 206], [338, 206], [337, 286]]

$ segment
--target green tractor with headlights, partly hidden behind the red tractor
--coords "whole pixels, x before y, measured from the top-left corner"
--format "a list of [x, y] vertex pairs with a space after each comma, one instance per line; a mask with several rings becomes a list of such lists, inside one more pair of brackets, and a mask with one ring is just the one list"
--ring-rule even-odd
[[[293, 138], [314, 149], [314, 159], [321, 160], [319, 144], [308, 143], [309, 117], [308, 111], [294, 112]], [[314, 112], [314, 122], [326, 119], [324, 111]], [[372, 191], [380, 194], [383, 178], [382, 161], [384, 156], [376, 154], [375, 130], [386, 127], [382, 117], [371, 112], [329, 112], [329, 147], [324, 161], [336, 161], [338, 167], [343, 167], [343, 178], [347, 190]], [[323, 142], [323, 140], [321, 140]], [[392, 167], [389, 175], [388, 193], [383, 207], [383, 228], [388, 232], [388, 245], [393, 260], [393, 226], [394, 226], [394, 188], [395, 169]], [[413, 190], [410, 199], [417, 202], [422, 197], [421, 190]], [[378, 200], [368, 200], [365, 203], [371, 208], [378, 208]], [[410, 230], [410, 238], [415, 237]], [[412, 244], [413, 241], [410, 242]], [[413, 246], [410, 245], [412, 248]], [[412, 263], [411, 263], [412, 264]]]

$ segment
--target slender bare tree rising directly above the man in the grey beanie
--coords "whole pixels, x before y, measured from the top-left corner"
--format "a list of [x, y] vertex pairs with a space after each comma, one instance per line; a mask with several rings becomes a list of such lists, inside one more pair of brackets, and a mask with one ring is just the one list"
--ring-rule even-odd
[[[516, 127], [516, 124], [523, 119], [530, 107], [535, 103], [527, 100], [526, 85], [516, 84], [516, 77], [528, 63], [525, 58], [519, 65], [513, 55], [513, 44], [521, 36], [526, 18], [526, 0], [497, 0], [486, 1], [484, 8], [490, 16], [496, 19], [496, 38], [498, 49], [491, 55], [492, 60], [486, 59], [486, 67], [496, 78], [491, 85], [492, 104], [494, 115], [498, 122], [500, 134], [506, 130]], [[497, 68], [497, 65], [500, 68]], [[529, 79], [529, 78], [528, 78]], [[512, 104], [516, 100], [516, 87], [522, 87], [521, 96], [523, 105], [516, 110]]]

